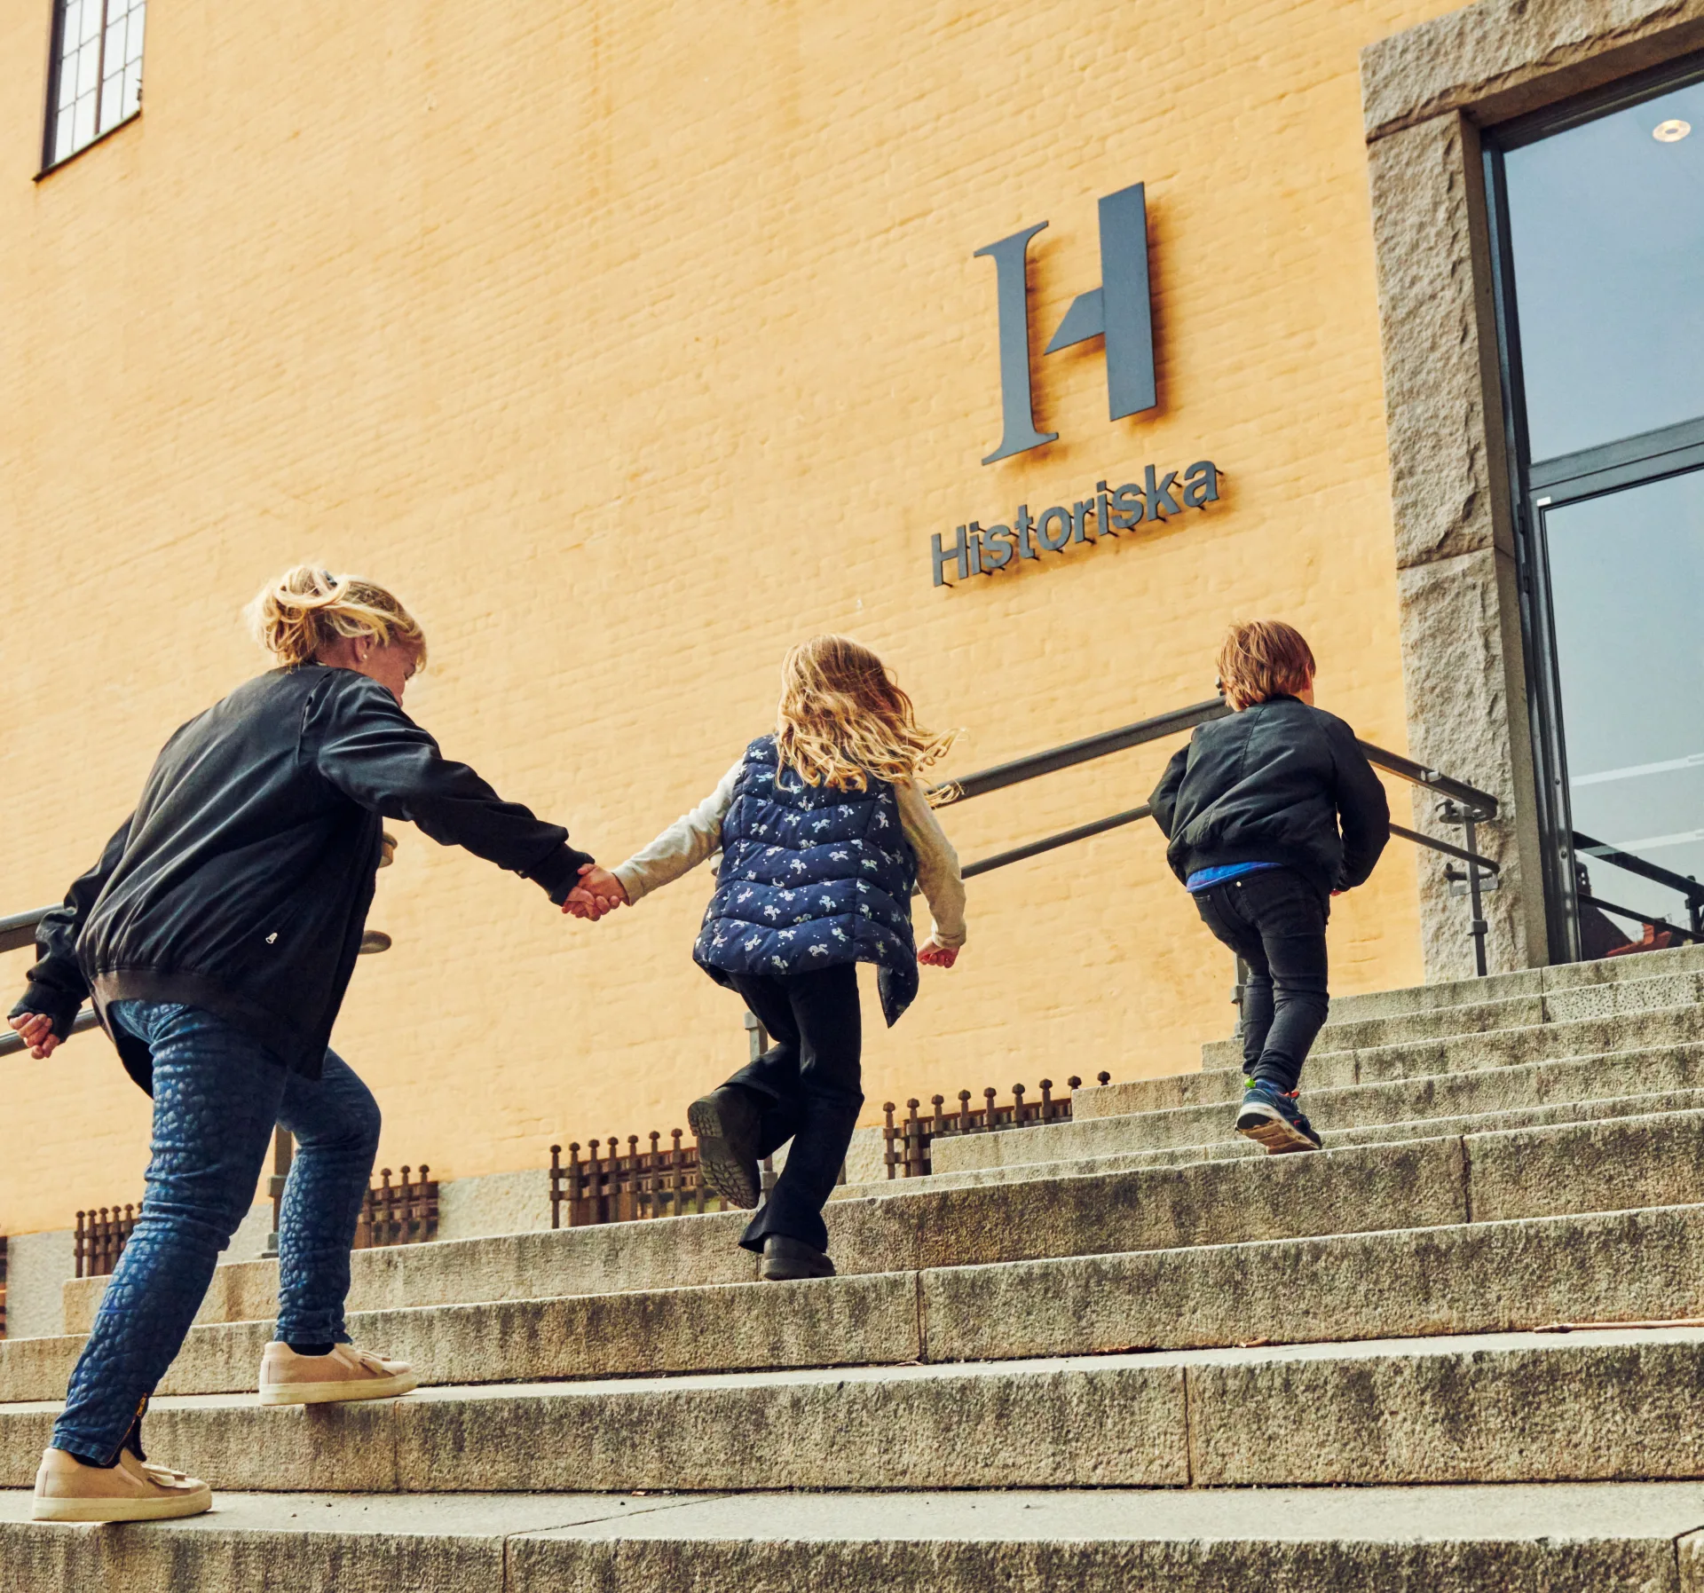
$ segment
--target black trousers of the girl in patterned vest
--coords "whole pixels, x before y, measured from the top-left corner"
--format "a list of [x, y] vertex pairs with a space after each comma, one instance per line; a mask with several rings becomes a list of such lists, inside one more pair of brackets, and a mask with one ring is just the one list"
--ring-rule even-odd
[[770, 1234], [784, 1234], [826, 1251], [823, 1206], [864, 1106], [857, 964], [815, 973], [736, 973], [729, 981], [774, 1044], [728, 1082], [763, 1097], [760, 1157], [792, 1140], [787, 1165], [740, 1244], [762, 1251]]

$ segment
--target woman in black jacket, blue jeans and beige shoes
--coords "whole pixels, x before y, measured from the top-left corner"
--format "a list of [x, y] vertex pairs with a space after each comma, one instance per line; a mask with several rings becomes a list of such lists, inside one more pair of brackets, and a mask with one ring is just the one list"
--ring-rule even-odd
[[[153, 1162], [36, 1477], [34, 1515], [138, 1521], [208, 1508], [141, 1458], [141, 1416], [247, 1215], [274, 1124], [296, 1138], [278, 1235], [262, 1404], [406, 1394], [402, 1361], [351, 1349], [349, 1245], [378, 1106], [329, 1048], [361, 946], [382, 820], [411, 820], [562, 903], [600, 877], [561, 825], [504, 802], [402, 712], [426, 634], [373, 581], [302, 564], [249, 618], [276, 668], [165, 743], [135, 813], [36, 932], [10, 1024], [49, 1056], [92, 998], [153, 1097]], [[477, 1017], [475, 1017], [477, 1021]]]

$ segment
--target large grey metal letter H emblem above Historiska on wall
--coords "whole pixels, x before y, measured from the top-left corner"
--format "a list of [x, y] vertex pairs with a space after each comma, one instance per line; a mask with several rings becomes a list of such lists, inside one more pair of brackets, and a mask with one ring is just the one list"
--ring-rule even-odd
[[[1000, 305], [1000, 446], [983, 463], [1010, 458], [1058, 440], [1038, 431], [1029, 371], [1029, 240], [1038, 221], [999, 244], [990, 256]], [[1101, 286], [1072, 300], [1043, 354], [1106, 337], [1106, 407], [1114, 421], [1154, 409], [1154, 315], [1148, 305], [1148, 206], [1137, 182], [1101, 201]]]

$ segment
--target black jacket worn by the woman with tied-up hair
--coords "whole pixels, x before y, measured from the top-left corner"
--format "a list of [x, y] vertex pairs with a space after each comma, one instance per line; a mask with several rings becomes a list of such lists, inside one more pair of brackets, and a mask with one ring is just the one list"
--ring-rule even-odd
[[[160, 753], [136, 811], [36, 930], [14, 1007], [72, 1029], [92, 995], [206, 1007], [317, 1078], [361, 947], [380, 820], [411, 820], [561, 903], [583, 852], [450, 763], [378, 681], [305, 664], [239, 687]], [[147, 1048], [114, 1036], [148, 1089]]]

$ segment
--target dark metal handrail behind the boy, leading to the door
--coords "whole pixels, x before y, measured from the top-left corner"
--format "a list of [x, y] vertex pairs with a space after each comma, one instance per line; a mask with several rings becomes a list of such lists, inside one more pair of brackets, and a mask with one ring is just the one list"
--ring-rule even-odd
[[[1135, 724], [1121, 726], [1116, 731], [1102, 731], [1097, 736], [1084, 736], [1079, 741], [1067, 741], [1063, 746], [1053, 746], [1046, 751], [1029, 753], [1022, 758], [1010, 758], [1005, 763], [995, 763], [990, 768], [978, 770], [976, 773], [964, 775], [958, 780], [944, 780], [935, 785], [929, 796], [937, 808], [951, 808], [956, 802], [968, 802], [971, 797], [987, 796], [990, 791], [1004, 791], [1009, 785], [1019, 785], [1024, 780], [1034, 780], [1041, 775], [1056, 773], [1062, 768], [1074, 768], [1079, 763], [1089, 763], [1096, 758], [1106, 758], [1111, 753], [1126, 751], [1131, 746], [1143, 746], [1148, 741], [1162, 741], [1166, 736], [1176, 736], [1181, 731], [1195, 729], [1198, 724], [1208, 724], [1213, 719], [1223, 719], [1227, 714], [1235, 712], [1223, 697], [1212, 697], [1206, 702], [1195, 702], [1186, 709], [1172, 709], [1169, 714], [1155, 714], [1152, 719], [1138, 719]], [[1462, 830], [1462, 840], [1465, 845], [1457, 847], [1450, 842], [1438, 840], [1431, 835], [1423, 835], [1418, 830], [1408, 830], [1402, 825], [1392, 825], [1390, 833], [1399, 835], [1402, 840], [1413, 842], [1416, 847], [1426, 847], [1433, 852], [1442, 852], [1447, 857], [1460, 859], [1467, 864], [1464, 874], [1450, 872], [1448, 877], [1465, 879], [1467, 893], [1472, 905], [1472, 922], [1469, 925], [1469, 935], [1474, 942], [1474, 966], [1479, 975], [1486, 973], [1486, 935], [1489, 932], [1489, 923], [1484, 917], [1484, 901], [1481, 896], [1486, 879], [1494, 877], [1500, 869], [1498, 864], [1479, 852], [1479, 825], [1489, 823], [1498, 816], [1498, 799], [1489, 791], [1481, 791], [1477, 785], [1469, 785], [1465, 780], [1452, 779], [1436, 768], [1430, 768], [1425, 763], [1418, 763], [1414, 758], [1408, 758], [1402, 753], [1387, 751], [1382, 746], [1373, 746], [1370, 741], [1358, 741], [1361, 753], [1367, 762], [1375, 768], [1382, 768], [1387, 773], [1396, 775], [1399, 780], [1408, 780], [1411, 785], [1419, 785], [1425, 791], [1431, 791], [1443, 801], [1438, 804], [1438, 818], [1445, 825], [1454, 825]], [[1114, 813], [1102, 820], [1094, 820], [1087, 825], [1077, 825], [1072, 830], [1060, 830], [1056, 835], [1046, 835], [1041, 840], [1033, 840], [1022, 847], [1012, 847], [1007, 852], [997, 852], [992, 857], [983, 857], [973, 864], [968, 864], [963, 871], [964, 879], [973, 879], [978, 874], [988, 874], [993, 869], [1004, 869], [1014, 862], [1024, 862], [1031, 857], [1039, 857], [1043, 852], [1051, 852], [1056, 847], [1068, 847], [1072, 842], [1089, 840], [1094, 835], [1104, 835], [1108, 830], [1118, 830], [1123, 825], [1133, 825], [1137, 820], [1152, 818], [1154, 809], [1143, 802], [1140, 808], [1126, 808], [1123, 813]], [[1701, 888], [1704, 891], [1704, 888]]]

